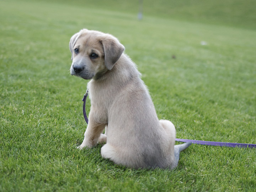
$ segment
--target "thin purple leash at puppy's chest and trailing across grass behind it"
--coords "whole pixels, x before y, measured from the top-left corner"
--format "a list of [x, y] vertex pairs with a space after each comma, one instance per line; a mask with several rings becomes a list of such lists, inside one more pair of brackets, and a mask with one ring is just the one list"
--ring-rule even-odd
[[[86, 103], [87, 96], [88, 96], [88, 90], [86, 90], [84, 98], [82, 99], [82, 101], [84, 101], [84, 105], [83, 105], [84, 118], [85, 118], [86, 123], [88, 124], [89, 121], [88, 121], [86, 111], [85, 111], [85, 103]], [[199, 140], [190, 140], [190, 139], [175, 139], [175, 141], [192, 142], [192, 143], [200, 144], [200, 145], [212, 145], [212, 146], [221, 146], [221, 147], [256, 148], [256, 144], [247, 144], [247, 143], [226, 143], [226, 142], [199, 141]]]

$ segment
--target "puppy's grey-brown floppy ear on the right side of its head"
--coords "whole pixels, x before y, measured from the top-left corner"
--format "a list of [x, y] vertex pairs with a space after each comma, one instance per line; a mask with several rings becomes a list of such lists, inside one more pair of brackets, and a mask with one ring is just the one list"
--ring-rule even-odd
[[105, 38], [101, 41], [105, 54], [105, 66], [111, 70], [121, 57], [124, 46], [114, 37]]

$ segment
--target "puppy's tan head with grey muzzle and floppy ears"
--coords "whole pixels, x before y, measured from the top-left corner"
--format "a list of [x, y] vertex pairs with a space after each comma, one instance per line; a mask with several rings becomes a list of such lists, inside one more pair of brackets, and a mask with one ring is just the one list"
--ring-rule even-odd
[[82, 29], [71, 37], [69, 49], [73, 60], [70, 74], [92, 79], [113, 68], [124, 46], [110, 34]]

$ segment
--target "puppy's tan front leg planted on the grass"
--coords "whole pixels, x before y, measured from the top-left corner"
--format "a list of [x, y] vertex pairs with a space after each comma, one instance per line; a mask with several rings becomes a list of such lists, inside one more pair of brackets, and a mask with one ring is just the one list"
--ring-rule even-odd
[[102, 131], [105, 128], [105, 123], [97, 123], [93, 118], [90, 118], [91, 115], [89, 115], [89, 124], [87, 126], [87, 129], [84, 134], [84, 141], [82, 144], [78, 147], [79, 149], [82, 149], [84, 147], [94, 147], [97, 145], [97, 143], [102, 142]]

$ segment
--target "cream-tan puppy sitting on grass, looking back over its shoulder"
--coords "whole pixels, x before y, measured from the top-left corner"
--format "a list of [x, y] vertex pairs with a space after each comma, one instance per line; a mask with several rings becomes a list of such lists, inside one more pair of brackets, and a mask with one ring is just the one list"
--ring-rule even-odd
[[[84, 141], [79, 146], [101, 148], [103, 158], [132, 168], [170, 168], [178, 165], [175, 127], [158, 120], [149, 92], [124, 46], [110, 34], [82, 29], [69, 43], [70, 73], [87, 84], [91, 110]], [[105, 134], [102, 131], [105, 130]]]

